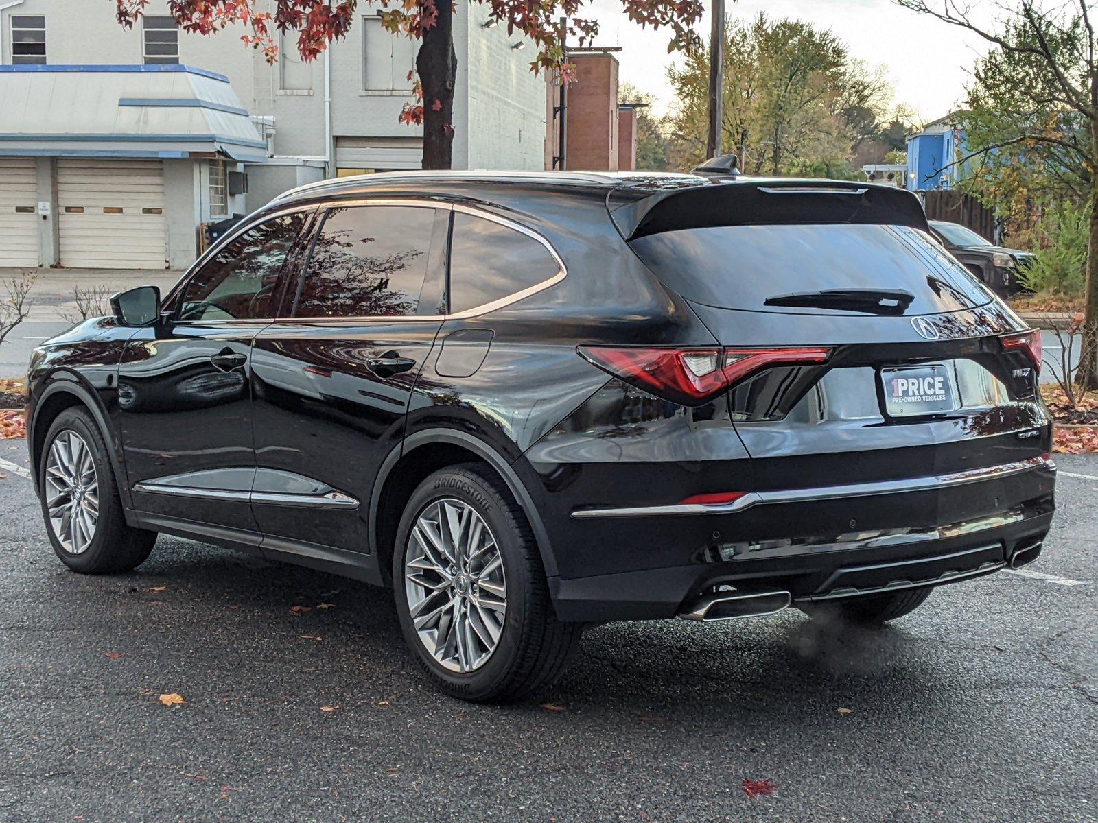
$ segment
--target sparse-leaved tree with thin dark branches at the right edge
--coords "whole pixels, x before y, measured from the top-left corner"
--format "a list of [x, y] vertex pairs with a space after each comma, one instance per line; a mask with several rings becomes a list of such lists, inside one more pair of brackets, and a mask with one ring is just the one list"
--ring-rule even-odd
[[[956, 117], [968, 148], [955, 159], [983, 178], [986, 199], [1021, 192], [1076, 196], [1089, 206], [1079, 381], [1098, 385], [1098, 42], [1088, 0], [1012, 0], [997, 23], [973, 21], [953, 0], [900, 4], [983, 37], [968, 111]], [[979, 188], [977, 188], [977, 191]]]

